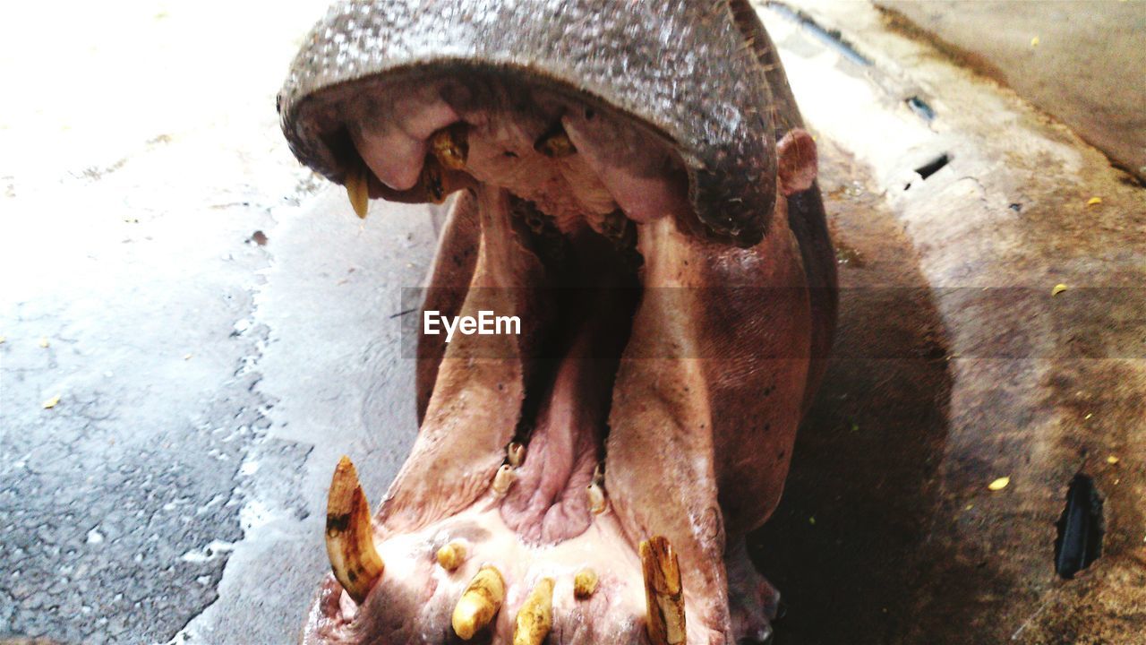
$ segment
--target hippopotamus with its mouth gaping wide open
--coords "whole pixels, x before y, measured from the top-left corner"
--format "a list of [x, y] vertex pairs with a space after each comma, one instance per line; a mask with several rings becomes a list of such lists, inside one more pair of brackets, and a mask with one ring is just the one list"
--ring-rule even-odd
[[419, 316], [519, 321], [422, 329], [417, 440], [374, 512], [335, 468], [303, 642], [766, 639], [778, 592], [745, 535], [837, 279], [816, 143], [748, 2], [340, 2], [278, 111], [359, 216], [449, 201]]

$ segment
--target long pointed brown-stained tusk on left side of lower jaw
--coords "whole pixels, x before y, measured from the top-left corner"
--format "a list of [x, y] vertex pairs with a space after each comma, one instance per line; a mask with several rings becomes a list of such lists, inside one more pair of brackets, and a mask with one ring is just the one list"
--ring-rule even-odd
[[370, 507], [354, 464], [343, 457], [335, 468], [327, 499], [327, 554], [335, 578], [362, 604], [385, 568], [374, 546]]

